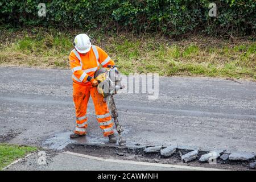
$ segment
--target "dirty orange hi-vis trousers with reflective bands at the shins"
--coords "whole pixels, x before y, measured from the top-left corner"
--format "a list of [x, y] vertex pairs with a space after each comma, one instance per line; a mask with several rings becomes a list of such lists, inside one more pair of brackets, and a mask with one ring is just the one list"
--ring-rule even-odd
[[86, 128], [88, 126], [86, 110], [90, 96], [92, 97], [97, 121], [103, 131], [104, 137], [114, 134], [114, 123], [109, 113], [108, 105], [104, 101], [103, 96], [98, 93], [97, 87], [81, 85], [76, 82], [73, 82], [73, 102], [76, 109], [76, 129], [74, 133], [79, 135], [86, 134]]

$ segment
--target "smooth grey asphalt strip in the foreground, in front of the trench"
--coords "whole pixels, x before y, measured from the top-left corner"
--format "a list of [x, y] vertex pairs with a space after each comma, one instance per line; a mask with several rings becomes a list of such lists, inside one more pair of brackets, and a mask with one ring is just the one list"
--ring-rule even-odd
[[94, 158], [93, 156], [77, 156], [70, 154], [51, 154], [38, 156], [38, 152], [27, 156], [5, 168], [7, 171], [195, 171], [216, 170], [214, 168], [191, 167], [185, 165], [170, 165], [156, 163], [133, 162], [130, 160], [115, 160]]

